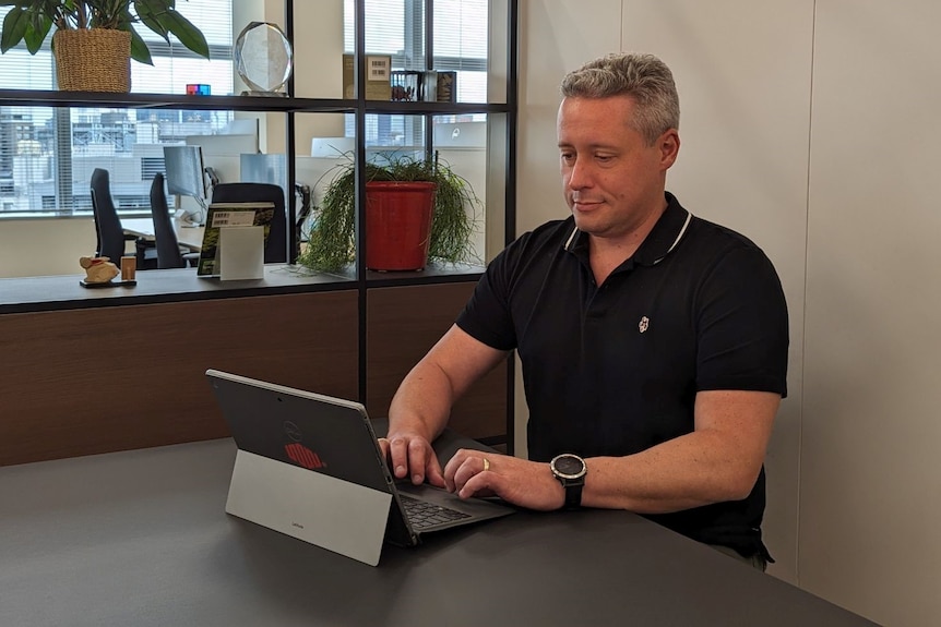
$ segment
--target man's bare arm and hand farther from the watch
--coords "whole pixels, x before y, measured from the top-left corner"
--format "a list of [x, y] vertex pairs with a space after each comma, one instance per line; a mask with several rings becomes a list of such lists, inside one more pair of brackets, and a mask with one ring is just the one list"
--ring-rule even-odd
[[470, 385], [507, 359], [507, 351], [476, 340], [452, 325], [405, 376], [389, 408], [385, 448], [396, 478], [444, 485], [431, 442], [448, 423], [451, 407]]

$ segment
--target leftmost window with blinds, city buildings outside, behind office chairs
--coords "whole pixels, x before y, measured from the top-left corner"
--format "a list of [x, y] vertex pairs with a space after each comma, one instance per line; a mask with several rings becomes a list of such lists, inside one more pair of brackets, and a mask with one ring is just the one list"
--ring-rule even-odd
[[[211, 60], [139, 25], [154, 65], [131, 62], [131, 91], [183, 94], [187, 83], [207, 83], [213, 94], [230, 94], [231, 0], [188, 0], [177, 9], [205, 35]], [[0, 21], [8, 11], [0, 8]], [[55, 88], [48, 40], [35, 56], [25, 47], [0, 55], [0, 89], [12, 88]], [[0, 215], [91, 210], [88, 181], [95, 167], [110, 170], [119, 208], [150, 207], [163, 145], [212, 134], [231, 119], [230, 111], [0, 106]]]

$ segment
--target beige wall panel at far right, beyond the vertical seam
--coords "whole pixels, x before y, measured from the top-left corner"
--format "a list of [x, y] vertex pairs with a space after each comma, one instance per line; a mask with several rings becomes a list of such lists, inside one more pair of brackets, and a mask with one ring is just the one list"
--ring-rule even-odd
[[801, 584], [941, 616], [941, 3], [818, 0]]

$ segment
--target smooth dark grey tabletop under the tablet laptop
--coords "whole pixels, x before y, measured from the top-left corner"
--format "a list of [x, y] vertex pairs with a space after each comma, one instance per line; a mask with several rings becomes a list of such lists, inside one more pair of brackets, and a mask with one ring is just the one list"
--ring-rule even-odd
[[871, 625], [623, 511], [520, 513], [372, 568], [227, 516], [234, 458], [0, 468], [0, 625]]

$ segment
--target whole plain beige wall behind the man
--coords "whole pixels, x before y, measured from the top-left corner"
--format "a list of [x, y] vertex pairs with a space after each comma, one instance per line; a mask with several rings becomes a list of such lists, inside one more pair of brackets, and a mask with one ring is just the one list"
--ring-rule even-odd
[[666, 60], [683, 109], [668, 188], [758, 242], [788, 299], [770, 571], [885, 625], [936, 624], [941, 4], [521, 4], [520, 231], [567, 213], [546, 184], [562, 74], [617, 49]]

